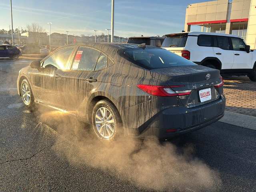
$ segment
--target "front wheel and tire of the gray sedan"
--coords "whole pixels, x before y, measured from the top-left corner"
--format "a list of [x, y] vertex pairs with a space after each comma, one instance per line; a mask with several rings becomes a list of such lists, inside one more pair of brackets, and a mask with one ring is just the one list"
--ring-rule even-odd
[[28, 80], [24, 79], [21, 82], [20, 93], [23, 103], [30, 109], [34, 108], [34, 96]]

